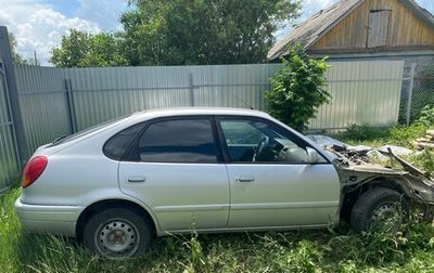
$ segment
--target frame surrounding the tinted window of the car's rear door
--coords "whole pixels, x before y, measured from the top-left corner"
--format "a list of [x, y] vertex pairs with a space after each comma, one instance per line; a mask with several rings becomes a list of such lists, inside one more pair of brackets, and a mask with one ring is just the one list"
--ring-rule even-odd
[[[216, 161], [215, 162], [180, 162], [180, 161], [142, 161], [142, 160], [132, 160], [128, 158], [128, 156], [131, 154], [132, 150], [135, 147], [138, 147], [139, 141], [142, 138], [144, 133], [146, 133], [148, 129], [153, 125], [162, 121], [175, 121], [175, 120], [189, 120], [189, 119], [195, 119], [195, 120], [208, 120], [210, 128], [212, 128], [212, 135], [213, 135], [213, 141], [214, 144], [216, 145]], [[127, 150], [127, 152], [124, 154], [123, 158], [120, 161], [126, 161], [126, 162], [142, 162], [142, 164], [200, 164], [200, 165], [214, 165], [214, 164], [225, 164], [224, 155], [222, 155], [222, 150], [221, 150], [221, 144], [219, 141], [219, 136], [217, 133], [217, 128], [216, 128], [216, 122], [214, 120], [214, 117], [212, 115], [184, 115], [184, 116], [168, 116], [168, 117], [158, 117], [158, 118], [153, 118], [150, 120], [145, 121], [144, 127], [142, 130], [138, 133], [136, 139], [131, 142], [131, 145]]]

